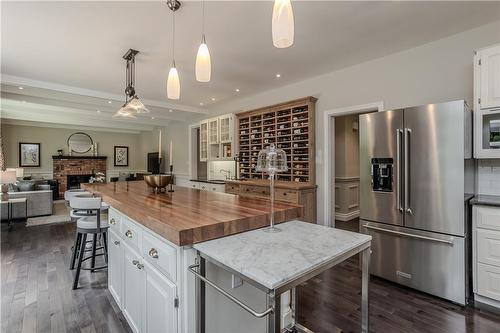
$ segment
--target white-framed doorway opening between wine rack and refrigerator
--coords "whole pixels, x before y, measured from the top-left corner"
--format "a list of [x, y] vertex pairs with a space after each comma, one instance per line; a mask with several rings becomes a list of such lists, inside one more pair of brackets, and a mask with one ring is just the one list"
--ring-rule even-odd
[[[336, 219], [339, 218], [339, 225], [350, 223], [347, 228], [351, 229], [352, 227], [353, 230], [357, 230], [356, 220], [359, 216], [358, 118], [361, 114], [379, 112], [383, 109], [383, 102], [375, 102], [333, 109], [325, 112], [325, 131], [323, 139], [323, 145], [325, 147], [325, 186], [323, 188], [323, 214], [325, 225], [335, 227]], [[336, 125], [337, 123], [339, 124], [338, 126]], [[337, 134], [337, 131], [340, 133]], [[349, 138], [349, 144], [351, 145], [349, 147], [351, 148], [345, 147], [345, 143], [341, 143], [341, 140], [345, 141], [347, 137]], [[336, 147], [337, 141], [339, 141], [339, 148]], [[357, 147], [356, 152], [349, 151], [349, 149], [354, 149], [352, 145]], [[344, 147], [340, 148], [342, 146]], [[338, 154], [337, 149], [340, 150]], [[342, 150], [344, 152], [342, 152]], [[348, 161], [342, 161], [342, 159], [346, 159], [346, 156], [348, 156]], [[353, 166], [353, 163], [357, 164], [357, 167]], [[338, 173], [337, 168], [339, 168]], [[345, 194], [341, 194], [341, 192]], [[337, 195], [339, 198], [336, 197]]]

